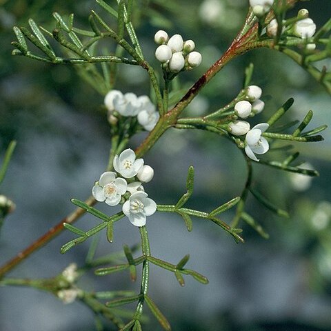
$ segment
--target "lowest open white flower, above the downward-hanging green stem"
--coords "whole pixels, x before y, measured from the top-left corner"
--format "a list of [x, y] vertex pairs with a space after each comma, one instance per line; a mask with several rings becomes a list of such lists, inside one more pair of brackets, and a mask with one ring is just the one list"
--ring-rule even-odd
[[135, 192], [123, 204], [122, 210], [133, 225], [143, 226], [146, 224], [146, 216], [150, 216], [156, 212], [157, 204], [148, 198], [146, 192]]

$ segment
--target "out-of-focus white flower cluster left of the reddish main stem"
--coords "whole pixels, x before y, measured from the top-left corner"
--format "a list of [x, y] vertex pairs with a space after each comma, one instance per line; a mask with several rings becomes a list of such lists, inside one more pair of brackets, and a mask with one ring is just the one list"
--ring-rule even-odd
[[117, 123], [117, 114], [123, 117], [137, 116], [139, 124], [147, 131], [152, 131], [159, 121], [159, 112], [147, 95], [137, 97], [134, 93], [123, 94], [119, 90], [111, 90], [104, 100], [108, 110], [108, 121]]

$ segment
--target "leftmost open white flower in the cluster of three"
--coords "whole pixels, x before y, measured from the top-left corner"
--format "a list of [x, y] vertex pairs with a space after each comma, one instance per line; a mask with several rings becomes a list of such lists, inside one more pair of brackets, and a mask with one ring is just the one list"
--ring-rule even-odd
[[126, 192], [127, 185], [125, 179], [116, 178], [115, 172], [103, 172], [99, 182], [93, 186], [92, 194], [97, 201], [105, 201], [108, 205], [118, 205], [121, 195]]

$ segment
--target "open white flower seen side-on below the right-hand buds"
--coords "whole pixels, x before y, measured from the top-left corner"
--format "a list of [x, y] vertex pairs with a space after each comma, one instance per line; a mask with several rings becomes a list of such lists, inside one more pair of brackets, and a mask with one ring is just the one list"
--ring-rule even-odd
[[261, 137], [262, 132], [265, 132], [269, 127], [268, 123], [260, 123], [254, 126], [252, 130], [248, 131], [245, 137], [245, 153], [254, 160], [259, 161], [254, 153], [264, 154], [269, 150], [269, 143], [267, 139]]

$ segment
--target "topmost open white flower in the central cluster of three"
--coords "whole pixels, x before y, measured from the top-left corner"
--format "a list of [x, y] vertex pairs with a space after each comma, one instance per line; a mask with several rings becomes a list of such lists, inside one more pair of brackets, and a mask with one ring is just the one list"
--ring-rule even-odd
[[136, 154], [128, 148], [127, 150], [123, 150], [119, 156], [115, 155], [113, 165], [114, 169], [124, 178], [132, 178], [137, 175], [143, 166], [143, 159], [136, 160]]

